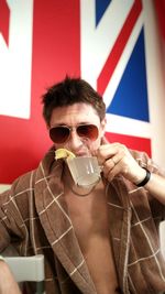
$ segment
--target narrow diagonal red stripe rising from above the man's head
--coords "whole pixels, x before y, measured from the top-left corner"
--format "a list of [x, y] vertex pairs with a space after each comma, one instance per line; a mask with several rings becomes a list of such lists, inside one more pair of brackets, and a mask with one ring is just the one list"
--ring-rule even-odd
[[114, 72], [114, 68], [121, 57], [121, 54], [124, 50], [124, 46], [130, 37], [130, 34], [132, 32], [132, 29], [142, 11], [142, 2], [141, 0], [135, 0], [132, 9], [130, 10], [130, 13], [127, 18], [125, 23], [122, 26], [122, 30], [120, 31], [120, 34], [113, 45], [112, 51], [110, 52], [107, 62], [98, 77], [97, 80], [97, 89], [100, 92], [100, 95], [103, 95], [107, 85]]

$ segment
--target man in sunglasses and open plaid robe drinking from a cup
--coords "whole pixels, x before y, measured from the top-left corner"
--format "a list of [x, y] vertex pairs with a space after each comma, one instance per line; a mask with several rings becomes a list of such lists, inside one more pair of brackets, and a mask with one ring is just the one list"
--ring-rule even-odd
[[[106, 140], [103, 100], [85, 80], [66, 77], [43, 105], [54, 145], [1, 195], [0, 249], [44, 253], [48, 294], [163, 293], [165, 174], [145, 153]], [[95, 188], [74, 184], [65, 161], [55, 160], [59, 148], [97, 156]]]

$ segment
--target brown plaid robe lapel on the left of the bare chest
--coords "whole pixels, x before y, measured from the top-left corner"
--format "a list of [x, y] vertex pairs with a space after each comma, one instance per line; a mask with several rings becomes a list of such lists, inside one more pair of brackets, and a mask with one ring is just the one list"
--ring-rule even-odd
[[36, 173], [36, 210], [54, 254], [65, 271], [82, 293], [96, 294], [64, 200], [61, 181], [63, 162], [53, 163], [53, 161], [50, 154]]

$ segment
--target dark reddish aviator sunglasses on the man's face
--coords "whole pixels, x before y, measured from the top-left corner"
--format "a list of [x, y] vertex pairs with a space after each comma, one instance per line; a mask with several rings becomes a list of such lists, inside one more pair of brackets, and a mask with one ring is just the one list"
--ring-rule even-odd
[[50, 138], [54, 143], [65, 143], [69, 140], [73, 129], [76, 130], [80, 138], [86, 138], [90, 141], [95, 141], [99, 134], [98, 128], [95, 124], [79, 124], [77, 127], [58, 126], [50, 130]]

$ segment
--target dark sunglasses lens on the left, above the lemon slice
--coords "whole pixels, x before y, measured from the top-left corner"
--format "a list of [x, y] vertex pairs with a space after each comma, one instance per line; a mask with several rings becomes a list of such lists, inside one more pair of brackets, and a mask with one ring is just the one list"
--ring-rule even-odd
[[64, 143], [69, 137], [69, 129], [66, 127], [55, 127], [50, 130], [50, 138], [54, 143]]

